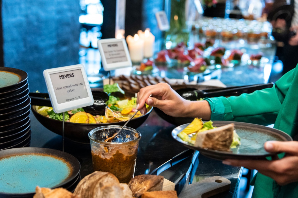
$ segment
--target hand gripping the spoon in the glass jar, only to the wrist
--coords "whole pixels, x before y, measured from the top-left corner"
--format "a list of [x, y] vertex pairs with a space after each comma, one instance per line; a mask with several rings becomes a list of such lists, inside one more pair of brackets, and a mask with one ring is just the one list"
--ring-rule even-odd
[[[150, 95], [152, 97], [149, 97]], [[147, 112], [145, 103], [152, 107], [159, 108], [168, 115], [182, 117], [187, 105], [187, 100], [177, 94], [167, 83], [158, 83], [144, 87], [138, 92], [136, 108], [139, 109], [142, 114]]]

